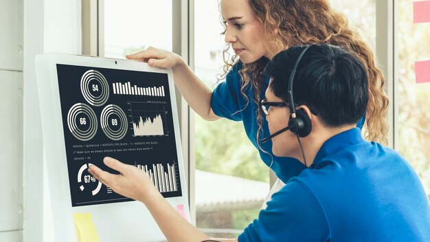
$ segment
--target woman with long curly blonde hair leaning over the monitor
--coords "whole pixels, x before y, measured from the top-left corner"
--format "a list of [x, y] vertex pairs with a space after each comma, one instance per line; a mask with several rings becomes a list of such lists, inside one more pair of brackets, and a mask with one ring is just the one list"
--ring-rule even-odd
[[382, 72], [376, 67], [369, 45], [350, 29], [343, 14], [330, 8], [328, 0], [220, 0], [220, 10], [227, 50], [232, 48], [235, 55], [229, 60], [225, 57], [225, 81], [214, 91], [177, 54], [149, 47], [126, 57], [146, 61], [153, 67], [172, 68], [179, 91], [205, 120], [242, 121], [263, 162], [286, 182], [306, 167], [296, 159], [273, 156], [271, 141], [260, 142], [261, 137], [269, 135], [267, 121], [258, 107], [269, 84], [262, 72], [275, 54], [288, 47], [339, 45], [359, 58], [369, 77], [369, 104], [365, 118], [357, 126], [364, 126], [367, 140], [385, 142], [388, 99], [383, 93]]

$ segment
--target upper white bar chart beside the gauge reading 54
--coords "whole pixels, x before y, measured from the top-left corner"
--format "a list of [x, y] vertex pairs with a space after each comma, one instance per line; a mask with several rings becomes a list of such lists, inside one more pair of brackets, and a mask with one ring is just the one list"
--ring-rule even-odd
[[128, 83], [112, 83], [113, 94], [163, 97], [164, 87], [137, 87]]

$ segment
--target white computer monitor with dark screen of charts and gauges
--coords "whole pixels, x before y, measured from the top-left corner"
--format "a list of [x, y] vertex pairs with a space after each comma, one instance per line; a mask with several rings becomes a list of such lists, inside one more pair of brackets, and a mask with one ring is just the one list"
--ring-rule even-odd
[[89, 174], [89, 164], [117, 173], [103, 164], [106, 156], [146, 173], [189, 219], [172, 69], [43, 54], [36, 57], [36, 73], [44, 210], [52, 218], [44, 219], [44, 227], [55, 241], [76, 241], [73, 214], [78, 213], [92, 215], [100, 241], [164, 239], [143, 203], [118, 195]]

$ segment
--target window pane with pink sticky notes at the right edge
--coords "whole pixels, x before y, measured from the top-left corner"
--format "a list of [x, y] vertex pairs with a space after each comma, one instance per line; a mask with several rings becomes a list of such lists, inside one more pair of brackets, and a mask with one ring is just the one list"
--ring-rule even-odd
[[413, 23], [413, 1], [399, 0], [398, 16], [398, 102], [396, 149], [420, 176], [430, 192], [430, 83], [416, 83], [416, 61], [429, 61], [430, 23]]

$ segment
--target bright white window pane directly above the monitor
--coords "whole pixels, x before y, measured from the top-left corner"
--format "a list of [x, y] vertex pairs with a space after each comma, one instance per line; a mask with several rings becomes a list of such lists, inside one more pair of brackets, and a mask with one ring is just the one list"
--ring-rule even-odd
[[154, 46], [172, 51], [172, 1], [104, 0], [104, 56]]

